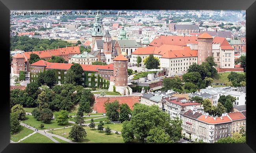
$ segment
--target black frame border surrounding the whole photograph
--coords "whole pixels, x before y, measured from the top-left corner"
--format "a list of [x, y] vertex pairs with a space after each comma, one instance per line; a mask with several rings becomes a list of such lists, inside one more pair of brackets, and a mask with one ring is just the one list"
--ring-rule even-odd
[[[252, 98], [253, 91], [253, 67], [252, 60], [255, 57], [255, 52], [251, 52], [253, 43], [256, 42], [256, 1], [255, 0], [178, 0], [178, 1], [165, 1], [165, 0], [129, 0], [129, 1], [63, 1], [63, 0], [1, 0], [0, 2], [0, 18], [2, 23], [0, 24], [1, 29], [1, 42], [2, 42], [2, 53], [4, 54], [3, 65], [4, 70], [9, 71], [7, 66], [9, 55], [9, 23], [10, 23], [10, 10], [247, 10], [246, 17], [246, 33], [247, 33], [247, 62], [251, 63], [249, 65], [249, 73], [247, 73], [247, 144], [144, 144], [142, 149], [160, 149], [163, 148], [167, 151], [174, 151], [177, 148], [180, 151], [196, 151], [196, 152], [214, 152], [214, 153], [241, 153], [241, 152], [255, 152], [256, 151], [256, 134], [254, 132], [254, 126], [256, 122], [256, 116], [254, 113], [255, 103]], [[248, 64], [247, 64], [248, 65]], [[247, 67], [248, 69], [248, 67]], [[1, 75], [2, 80], [9, 79], [9, 74], [3, 73]], [[101, 147], [101, 144], [76, 144], [77, 146], [67, 147], [70, 144], [10, 144], [9, 141], [9, 82], [3, 81], [4, 84], [2, 88], [2, 102], [0, 107], [0, 116], [2, 117], [0, 123], [0, 151], [3, 152], [52, 152], [52, 148], [58, 149], [58, 151], [68, 150], [74, 151], [74, 149], [80, 148], [84, 151], [88, 149], [93, 149], [95, 151], [108, 150], [111, 147], [111, 151], [120, 151], [119, 147], [126, 148], [126, 151], [134, 150], [133, 146], [138, 144], [104, 144], [106, 147]], [[56, 147], [56, 145], [58, 145]], [[87, 145], [87, 146], [85, 146]], [[110, 146], [109, 146], [110, 145]], [[131, 145], [127, 146], [127, 145]], [[155, 146], [157, 145], [157, 146]], [[158, 148], [158, 145], [160, 148]], [[163, 145], [163, 146], [162, 146]], [[52, 146], [52, 148], [51, 148]], [[100, 147], [99, 147], [100, 146]], [[118, 149], [117, 149], [118, 148]]]

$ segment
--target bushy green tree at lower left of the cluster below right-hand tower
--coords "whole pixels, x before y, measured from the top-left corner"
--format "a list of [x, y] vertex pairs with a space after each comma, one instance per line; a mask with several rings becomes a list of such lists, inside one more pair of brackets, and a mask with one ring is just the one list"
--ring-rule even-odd
[[164, 78], [162, 81], [162, 90], [167, 91], [173, 89], [176, 92], [182, 92], [182, 81], [178, 76], [174, 78]]

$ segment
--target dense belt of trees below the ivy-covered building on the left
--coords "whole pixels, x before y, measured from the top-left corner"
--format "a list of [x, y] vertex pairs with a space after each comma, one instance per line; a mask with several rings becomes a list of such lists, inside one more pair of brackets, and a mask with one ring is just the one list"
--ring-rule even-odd
[[[57, 85], [51, 89], [38, 89], [36, 82], [27, 85], [24, 91], [14, 89], [10, 93], [10, 108], [15, 104], [39, 109], [69, 110], [75, 104], [80, 104], [79, 110], [90, 113], [93, 105], [93, 94], [82, 86], [73, 84]], [[76, 91], [76, 92], [75, 92]]]

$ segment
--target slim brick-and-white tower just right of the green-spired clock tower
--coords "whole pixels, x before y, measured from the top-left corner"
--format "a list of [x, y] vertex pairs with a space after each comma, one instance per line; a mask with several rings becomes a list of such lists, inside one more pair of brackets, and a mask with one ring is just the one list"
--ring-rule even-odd
[[103, 42], [103, 53], [106, 56], [106, 63], [111, 63], [111, 54], [112, 54], [112, 41], [111, 41], [111, 35], [109, 32], [106, 32], [106, 35], [104, 36], [104, 42]]

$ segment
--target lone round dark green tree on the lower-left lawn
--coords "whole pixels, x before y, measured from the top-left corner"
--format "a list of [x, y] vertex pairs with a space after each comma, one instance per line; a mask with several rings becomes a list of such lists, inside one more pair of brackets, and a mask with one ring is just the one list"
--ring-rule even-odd
[[85, 129], [83, 128], [83, 126], [80, 125], [74, 125], [73, 127], [71, 127], [71, 130], [69, 132], [69, 138], [74, 139], [75, 141], [79, 141], [82, 140], [83, 138], [85, 138], [87, 135]]

